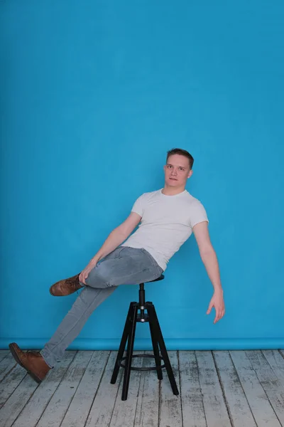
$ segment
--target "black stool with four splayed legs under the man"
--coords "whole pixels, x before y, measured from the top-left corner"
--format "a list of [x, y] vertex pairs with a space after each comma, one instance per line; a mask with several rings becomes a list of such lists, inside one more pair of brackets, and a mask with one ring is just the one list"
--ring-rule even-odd
[[[157, 282], [158, 280], [163, 280], [165, 276], [162, 274], [158, 279], [151, 280], [151, 282]], [[119, 352], [116, 357], [116, 362], [114, 365], [114, 371], [111, 376], [111, 384], [115, 384], [117, 376], [119, 374], [119, 368], [124, 368], [124, 385], [122, 388], [121, 400], [125, 401], [127, 399], [127, 394], [129, 391], [129, 379], [131, 369], [134, 371], [148, 371], [156, 370], [158, 379], [163, 379], [162, 369], [165, 368], [168, 373], [170, 380], [170, 385], [173, 389], [173, 394], [178, 395], [178, 386], [175, 382], [175, 376], [173, 375], [173, 369], [170, 364], [170, 359], [168, 357], [167, 349], [165, 348], [165, 342], [163, 339], [162, 331], [160, 330], [160, 325], [158, 322], [158, 317], [155, 312], [155, 307], [153, 302], [145, 302], [145, 290], [144, 283], [139, 285], [139, 302], [131, 302], [129, 306], [129, 312], [126, 317], [126, 322], [124, 326], [124, 332], [121, 337], [121, 343], [119, 345]], [[140, 314], [138, 314], [140, 310]], [[147, 310], [147, 313], [145, 313]], [[133, 346], [134, 346], [134, 337], [136, 331], [136, 322], [149, 322], [151, 339], [153, 344], [154, 354], [136, 354], [133, 356]], [[126, 347], [126, 357], [122, 357]], [[160, 347], [160, 351], [159, 351]], [[161, 356], [160, 356], [161, 353]], [[138, 368], [131, 367], [131, 362], [134, 357], [153, 357], [155, 359], [155, 367], [149, 368]], [[121, 362], [125, 359], [125, 364]], [[164, 364], [161, 365], [160, 361], [163, 360]]]

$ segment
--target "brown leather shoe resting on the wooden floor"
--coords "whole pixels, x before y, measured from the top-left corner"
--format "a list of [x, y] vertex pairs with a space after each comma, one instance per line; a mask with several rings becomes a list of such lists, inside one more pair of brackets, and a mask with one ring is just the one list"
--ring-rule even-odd
[[22, 352], [16, 342], [9, 344], [9, 349], [16, 362], [26, 369], [36, 382], [43, 381], [51, 368], [39, 352]]

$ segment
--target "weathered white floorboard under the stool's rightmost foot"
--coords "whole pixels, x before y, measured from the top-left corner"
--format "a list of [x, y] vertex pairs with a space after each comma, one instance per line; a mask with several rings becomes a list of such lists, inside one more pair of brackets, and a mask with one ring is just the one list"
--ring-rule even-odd
[[[168, 352], [170, 364], [173, 368], [175, 381], [180, 391], [180, 378], [178, 371], [178, 352]], [[170, 386], [168, 374], [165, 371], [163, 380], [160, 381], [160, 427], [182, 427], [182, 409], [180, 394], [175, 396]]]

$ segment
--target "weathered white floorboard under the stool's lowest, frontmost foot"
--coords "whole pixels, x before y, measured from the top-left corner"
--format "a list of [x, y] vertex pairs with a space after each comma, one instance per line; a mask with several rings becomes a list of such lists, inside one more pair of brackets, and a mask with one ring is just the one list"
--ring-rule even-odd
[[[143, 352], [133, 352], [135, 354], [143, 354]], [[124, 361], [125, 363], [125, 361]], [[141, 357], [135, 358], [132, 360], [133, 367], [141, 367], [142, 359]], [[121, 368], [124, 369], [124, 368]], [[124, 375], [124, 372], [123, 372]], [[114, 412], [111, 416], [111, 422], [109, 427], [121, 427], [121, 426], [133, 426], [136, 407], [138, 401], [138, 393], [141, 380], [141, 371], [131, 371], [130, 381], [129, 381], [129, 393], [126, 401], [121, 401], [121, 393], [124, 379], [121, 379], [119, 384], [119, 392], [116, 396], [116, 403], [114, 405]]]

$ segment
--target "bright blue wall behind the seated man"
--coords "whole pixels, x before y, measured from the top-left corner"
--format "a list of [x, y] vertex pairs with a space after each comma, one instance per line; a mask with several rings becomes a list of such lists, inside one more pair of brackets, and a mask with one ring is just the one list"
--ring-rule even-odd
[[[169, 349], [284, 346], [283, 1], [6, 0], [1, 14], [1, 339], [40, 348], [82, 270], [165, 153], [188, 149], [226, 301], [195, 238], [147, 286]], [[137, 286], [121, 286], [71, 348], [116, 349]], [[136, 349], [150, 348], [138, 325]]]

